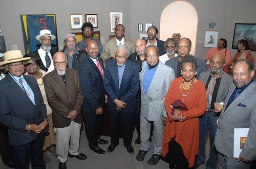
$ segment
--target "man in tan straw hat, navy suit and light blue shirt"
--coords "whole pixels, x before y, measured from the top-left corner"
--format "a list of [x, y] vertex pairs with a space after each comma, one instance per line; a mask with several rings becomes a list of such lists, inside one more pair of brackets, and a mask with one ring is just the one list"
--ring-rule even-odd
[[[46, 168], [42, 146], [48, 119], [36, 79], [23, 75], [24, 62], [20, 50], [7, 51], [0, 66], [9, 70], [0, 81], [0, 123], [9, 128], [15, 168]], [[4, 90], [3, 90], [4, 89]]]

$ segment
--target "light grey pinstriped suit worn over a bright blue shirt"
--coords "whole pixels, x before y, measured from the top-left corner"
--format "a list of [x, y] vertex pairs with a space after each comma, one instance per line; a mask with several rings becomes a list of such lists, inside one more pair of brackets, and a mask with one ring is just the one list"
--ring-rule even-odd
[[154, 124], [154, 154], [161, 154], [163, 129], [162, 116], [167, 117], [164, 108], [164, 98], [169, 89], [170, 83], [175, 78], [174, 70], [159, 62], [150, 87], [145, 95], [143, 91], [143, 76], [146, 71], [146, 61], [142, 65], [141, 79], [141, 115], [140, 115], [140, 150], [150, 149], [151, 123]]

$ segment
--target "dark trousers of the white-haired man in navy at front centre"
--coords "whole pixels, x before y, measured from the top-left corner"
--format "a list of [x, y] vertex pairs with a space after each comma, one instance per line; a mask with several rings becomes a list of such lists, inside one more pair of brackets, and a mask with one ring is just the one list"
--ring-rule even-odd
[[119, 122], [121, 120], [123, 127], [123, 145], [124, 147], [131, 147], [133, 139], [133, 124], [134, 124], [134, 112], [131, 114], [123, 114], [121, 111], [115, 112], [109, 111], [110, 131], [111, 131], [111, 144], [117, 145], [119, 142]]

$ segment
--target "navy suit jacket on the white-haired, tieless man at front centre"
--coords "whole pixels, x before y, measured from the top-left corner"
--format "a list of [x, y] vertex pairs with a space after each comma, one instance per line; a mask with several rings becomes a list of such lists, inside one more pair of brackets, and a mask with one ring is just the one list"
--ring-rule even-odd
[[109, 60], [105, 66], [104, 87], [109, 96], [108, 108], [110, 112], [116, 111], [117, 107], [113, 101], [117, 98], [127, 104], [121, 112], [124, 114], [133, 113], [136, 105], [135, 96], [139, 90], [139, 65], [129, 59], [126, 60], [119, 89], [116, 60]]

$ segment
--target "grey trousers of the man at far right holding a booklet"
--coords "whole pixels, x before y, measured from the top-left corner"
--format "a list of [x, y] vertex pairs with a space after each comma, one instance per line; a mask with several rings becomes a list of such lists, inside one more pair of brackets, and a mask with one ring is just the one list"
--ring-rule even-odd
[[237, 161], [237, 158], [230, 158], [217, 151], [218, 168], [219, 169], [246, 169], [250, 168], [250, 162], [244, 163], [242, 160]]

